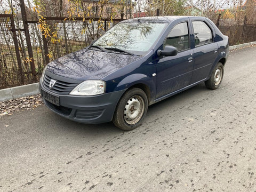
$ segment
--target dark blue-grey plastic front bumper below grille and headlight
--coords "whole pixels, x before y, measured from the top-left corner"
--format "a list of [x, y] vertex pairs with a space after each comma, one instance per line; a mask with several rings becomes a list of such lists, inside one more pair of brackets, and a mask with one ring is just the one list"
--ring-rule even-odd
[[125, 92], [125, 90], [121, 90], [94, 96], [61, 95], [45, 89], [44, 85], [40, 83], [41, 95], [42, 90], [59, 97], [60, 106], [43, 99], [46, 107], [62, 117], [87, 124], [112, 121], [117, 102]]

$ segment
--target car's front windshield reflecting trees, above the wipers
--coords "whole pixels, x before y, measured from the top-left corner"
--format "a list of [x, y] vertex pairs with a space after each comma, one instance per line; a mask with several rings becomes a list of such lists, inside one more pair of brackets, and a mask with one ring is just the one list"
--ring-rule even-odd
[[119, 23], [101, 36], [94, 46], [109, 50], [124, 50], [137, 55], [145, 54], [156, 42], [167, 23]]

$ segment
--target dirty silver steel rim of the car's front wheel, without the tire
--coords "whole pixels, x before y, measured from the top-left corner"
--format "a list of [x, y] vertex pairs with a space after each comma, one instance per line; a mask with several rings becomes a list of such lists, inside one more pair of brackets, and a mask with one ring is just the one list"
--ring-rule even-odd
[[143, 116], [145, 102], [140, 95], [129, 98], [124, 106], [124, 121], [129, 125], [138, 123]]

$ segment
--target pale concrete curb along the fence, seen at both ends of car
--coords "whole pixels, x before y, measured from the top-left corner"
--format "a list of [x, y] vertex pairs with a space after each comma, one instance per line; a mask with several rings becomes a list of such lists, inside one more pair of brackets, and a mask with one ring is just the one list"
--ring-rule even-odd
[[[239, 45], [233, 45], [229, 47], [229, 50], [242, 48], [245, 46], [256, 44], [256, 42], [243, 43]], [[22, 85], [17, 87], [11, 87], [0, 90], [0, 102], [10, 99], [18, 99], [21, 97], [27, 97], [30, 95], [39, 94], [39, 83], [33, 83], [29, 85]]]

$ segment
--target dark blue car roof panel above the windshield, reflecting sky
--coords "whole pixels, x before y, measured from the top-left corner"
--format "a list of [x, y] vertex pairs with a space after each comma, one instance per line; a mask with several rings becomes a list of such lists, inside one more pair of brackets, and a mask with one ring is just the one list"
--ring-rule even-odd
[[[127, 19], [122, 22], [167, 22], [170, 23], [175, 19], [180, 18], [188, 18], [189, 16], [156, 16], [156, 17], [141, 17], [141, 18], [134, 18], [134, 19]], [[200, 17], [203, 18], [203, 17]]]

